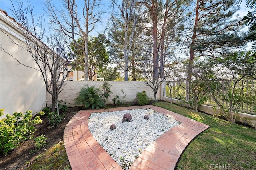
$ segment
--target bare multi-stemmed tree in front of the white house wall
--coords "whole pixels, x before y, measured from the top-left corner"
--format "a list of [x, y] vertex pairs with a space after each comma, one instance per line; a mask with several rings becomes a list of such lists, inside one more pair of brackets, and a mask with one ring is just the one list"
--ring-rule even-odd
[[[66, 84], [65, 78], [67, 75], [64, 72], [68, 72], [68, 61], [66, 60], [67, 46], [64, 42], [64, 37], [61, 34], [47, 36], [44, 17], [40, 15], [35, 20], [31, 4], [28, 4], [28, 7], [25, 9], [21, 2], [18, 2], [17, 7], [14, 7], [14, 4], [12, 5], [14, 9], [12, 12], [24, 36], [12, 38], [7, 33], [4, 33], [12, 43], [27, 51], [38, 67], [32, 68], [25, 65], [2, 47], [1, 50], [16, 59], [19, 64], [40, 72], [46, 85], [46, 91], [52, 96], [52, 111], [54, 112], [58, 102], [58, 95]], [[13, 35], [15, 34], [13, 33]]]

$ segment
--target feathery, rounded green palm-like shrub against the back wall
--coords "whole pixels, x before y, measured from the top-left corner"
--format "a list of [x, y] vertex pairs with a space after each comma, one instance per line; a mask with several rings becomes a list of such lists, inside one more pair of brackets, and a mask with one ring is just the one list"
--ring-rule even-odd
[[99, 88], [95, 88], [95, 86], [89, 87], [88, 84], [86, 84], [86, 86], [82, 87], [78, 92], [75, 104], [83, 106], [84, 109], [100, 109], [104, 107], [104, 99], [101, 96]]

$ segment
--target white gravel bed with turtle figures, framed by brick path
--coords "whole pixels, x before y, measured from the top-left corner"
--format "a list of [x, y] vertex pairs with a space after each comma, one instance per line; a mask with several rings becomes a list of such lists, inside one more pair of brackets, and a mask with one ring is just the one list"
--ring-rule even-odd
[[[122, 123], [125, 113], [131, 122]], [[143, 119], [149, 115], [149, 119]], [[110, 125], [116, 129], [111, 130]], [[180, 122], [152, 109], [91, 113], [88, 128], [98, 143], [123, 168], [128, 169], [138, 155], [156, 138]]]

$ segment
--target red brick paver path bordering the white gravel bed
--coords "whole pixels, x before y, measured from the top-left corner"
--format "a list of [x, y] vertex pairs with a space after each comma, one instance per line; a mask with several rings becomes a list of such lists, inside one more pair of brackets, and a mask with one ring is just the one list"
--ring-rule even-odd
[[131, 106], [100, 110], [81, 110], [64, 130], [64, 145], [72, 170], [121, 170], [122, 168], [99, 145], [88, 129], [88, 118], [93, 112], [150, 108], [180, 121], [153, 141], [133, 162], [130, 170], [173, 170], [186, 146], [210, 126], [189, 119], [161, 107]]

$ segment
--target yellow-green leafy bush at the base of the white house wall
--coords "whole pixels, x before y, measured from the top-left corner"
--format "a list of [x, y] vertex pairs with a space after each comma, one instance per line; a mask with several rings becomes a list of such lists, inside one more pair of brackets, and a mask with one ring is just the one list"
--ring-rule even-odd
[[[0, 109], [0, 116], [4, 115], [4, 109]], [[40, 112], [38, 114], [44, 114]], [[32, 111], [14, 112], [13, 115], [6, 115], [0, 120], [0, 153], [7, 154], [16, 148], [26, 139], [32, 139], [32, 134], [36, 131], [34, 124], [42, 123], [39, 116], [32, 119]]]

